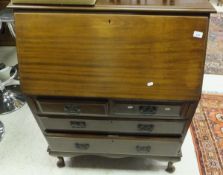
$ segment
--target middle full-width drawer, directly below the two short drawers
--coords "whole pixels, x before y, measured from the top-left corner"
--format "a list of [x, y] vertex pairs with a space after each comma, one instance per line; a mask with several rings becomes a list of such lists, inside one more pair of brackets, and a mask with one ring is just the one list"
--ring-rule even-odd
[[185, 121], [87, 120], [40, 117], [46, 130], [181, 135]]

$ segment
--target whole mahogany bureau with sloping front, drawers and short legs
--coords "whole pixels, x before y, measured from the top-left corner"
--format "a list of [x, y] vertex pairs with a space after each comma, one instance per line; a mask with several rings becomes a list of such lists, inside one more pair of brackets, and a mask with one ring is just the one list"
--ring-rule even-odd
[[21, 87], [59, 167], [64, 156], [139, 156], [174, 171], [201, 96], [208, 1], [9, 7]]

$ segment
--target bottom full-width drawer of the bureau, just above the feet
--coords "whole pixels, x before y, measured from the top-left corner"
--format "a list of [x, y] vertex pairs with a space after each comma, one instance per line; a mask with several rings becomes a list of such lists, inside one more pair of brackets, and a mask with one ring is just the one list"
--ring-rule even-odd
[[91, 154], [126, 154], [177, 156], [181, 143], [177, 139], [140, 139], [132, 137], [89, 138], [47, 137], [50, 149], [58, 152]]

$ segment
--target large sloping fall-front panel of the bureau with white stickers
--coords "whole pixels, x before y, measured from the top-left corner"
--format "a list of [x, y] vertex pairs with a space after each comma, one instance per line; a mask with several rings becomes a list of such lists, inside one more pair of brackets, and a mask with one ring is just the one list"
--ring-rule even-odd
[[18, 12], [15, 22], [28, 95], [200, 98], [208, 17]]

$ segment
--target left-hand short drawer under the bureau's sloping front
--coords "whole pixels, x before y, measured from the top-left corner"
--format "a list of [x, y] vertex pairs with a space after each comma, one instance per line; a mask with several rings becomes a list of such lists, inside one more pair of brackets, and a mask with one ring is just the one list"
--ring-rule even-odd
[[101, 101], [37, 99], [38, 113], [49, 115], [106, 115], [107, 104]]

